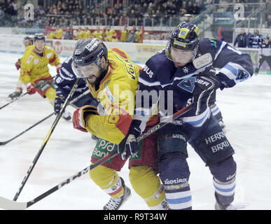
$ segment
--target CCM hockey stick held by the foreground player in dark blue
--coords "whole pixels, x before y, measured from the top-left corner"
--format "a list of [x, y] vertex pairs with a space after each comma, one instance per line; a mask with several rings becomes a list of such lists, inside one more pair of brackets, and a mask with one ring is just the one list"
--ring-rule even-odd
[[[181, 111], [178, 111], [178, 112], [174, 113], [174, 115], [172, 115], [169, 118], [167, 118], [166, 120], [164, 120], [162, 123], [158, 123], [157, 125], [153, 126], [146, 133], [141, 134], [139, 137], [137, 137], [137, 141], [140, 141], [140, 140], [148, 137], [149, 135], [153, 134], [153, 132], [156, 132], [161, 127], [164, 127], [165, 125], [167, 125], [170, 121], [172, 121], [172, 119], [179, 118], [180, 116], [182, 116], [187, 111], [190, 111], [190, 109], [193, 108], [193, 105], [194, 105], [194, 103], [186, 106], [185, 108], [181, 109]], [[92, 165], [86, 167], [85, 169], [82, 169], [77, 174], [74, 174], [73, 176], [69, 177], [69, 179], [66, 179], [65, 181], [62, 181], [61, 183], [57, 184], [57, 186], [51, 188], [50, 190], [47, 190], [45, 193], [43, 193], [43, 194], [39, 195], [38, 197], [34, 198], [34, 200], [32, 200], [32, 201], [29, 201], [29, 202], [15, 202], [13, 200], [8, 200], [5, 197], [0, 197], [0, 208], [1, 209], [8, 209], [8, 210], [11, 210], [11, 209], [17, 209], [17, 210], [27, 209], [28, 207], [32, 206], [36, 202], [39, 202], [43, 198], [45, 198], [48, 195], [51, 195], [55, 191], [59, 190], [63, 186], [71, 183], [71, 181], [74, 181], [75, 179], [83, 176], [83, 174], [86, 174], [86, 173], [90, 172], [90, 170], [94, 169], [95, 167], [97, 167], [99, 165], [102, 165], [104, 162], [106, 162], [108, 160], [111, 160], [111, 158], [115, 157], [116, 155], [118, 155], [117, 151], [115, 151], [115, 152], [113, 152], [113, 153], [111, 153], [109, 155], [106, 155], [106, 157], [104, 157], [104, 158], [102, 158], [100, 160], [97, 160], [97, 162], [94, 162]]]

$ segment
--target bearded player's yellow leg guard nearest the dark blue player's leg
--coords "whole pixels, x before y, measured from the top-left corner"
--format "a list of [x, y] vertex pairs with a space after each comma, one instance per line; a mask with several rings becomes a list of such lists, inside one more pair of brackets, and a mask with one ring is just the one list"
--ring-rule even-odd
[[130, 167], [129, 177], [134, 191], [145, 200], [150, 209], [168, 209], [165, 191], [151, 167]]

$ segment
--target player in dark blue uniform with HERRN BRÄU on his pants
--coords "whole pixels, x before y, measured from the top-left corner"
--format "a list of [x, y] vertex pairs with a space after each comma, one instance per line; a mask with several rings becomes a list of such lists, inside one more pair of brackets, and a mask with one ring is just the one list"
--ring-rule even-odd
[[[236, 209], [232, 205], [236, 179], [234, 150], [211, 114], [209, 99], [216, 89], [233, 87], [252, 74], [249, 55], [224, 41], [200, 38], [198, 27], [187, 22], [178, 25], [167, 47], [146, 62], [139, 76], [130, 135], [138, 137], [144, 131], [155, 104], [159, 106], [161, 121], [195, 102], [193, 109], [158, 130], [160, 179], [170, 209], [192, 209], [187, 144], [200, 155], [213, 176], [215, 209]], [[128, 141], [118, 153], [132, 155], [137, 146], [135, 141]]]

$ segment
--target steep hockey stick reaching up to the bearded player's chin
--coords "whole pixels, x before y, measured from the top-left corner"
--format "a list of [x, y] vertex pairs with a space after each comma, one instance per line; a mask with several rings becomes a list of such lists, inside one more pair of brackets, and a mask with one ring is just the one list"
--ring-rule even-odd
[[25, 176], [25, 178], [23, 179], [21, 186], [18, 189], [18, 192], [16, 193], [15, 197], [13, 198], [14, 201], [16, 201], [20, 195], [20, 193], [22, 192], [22, 188], [24, 188], [25, 183], [27, 182], [27, 179], [29, 178], [30, 174], [32, 173], [32, 170], [34, 169], [36, 162], [39, 160], [39, 157], [41, 155], [41, 153], [43, 152], [43, 149], [46, 147], [46, 144], [48, 143], [48, 140], [50, 139], [51, 134], [53, 133], [53, 131], [55, 130], [55, 127], [57, 126], [57, 123], [59, 122], [62, 113], [64, 113], [65, 108], [67, 107], [67, 105], [69, 104], [69, 101], [71, 100], [72, 95], [74, 94], [74, 91], [76, 90], [76, 88], [78, 87], [79, 82], [81, 81], [82, 78], [77, 78], [76, 83], [74, 83], [74, 86], [71, 89], [71, 92], [69, 92], [68, 97], [66, 98], [62, 109], [60, 110], [60, 113], [57, 115], [57, 117], [55, 118], [55, 121], [52, 125], [52, 127], [50, 127], [50, 130], [46, 136], [46, 139], [43, 141], [43, 144], [41, 145], [41, 148], [39, 150], [39, 152], [36, 154], [36, 157], [34, 158], [32, 165], [29, 167], [28, 171], [27, 171], [27, 175]]

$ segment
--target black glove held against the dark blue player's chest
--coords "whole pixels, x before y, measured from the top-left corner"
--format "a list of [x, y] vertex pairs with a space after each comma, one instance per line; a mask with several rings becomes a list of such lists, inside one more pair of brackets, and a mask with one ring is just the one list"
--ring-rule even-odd
[[207, 74], [204, 76], [195, 77], [195, 88], [193, 90], [194, 102], [205, 102], [207, 98], [221, 87], [220, 80], [212, 75]]

